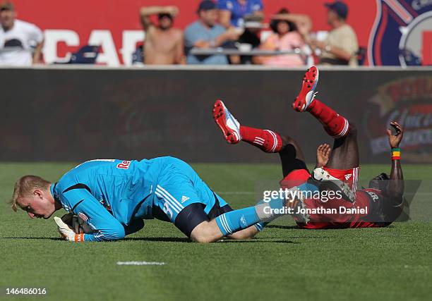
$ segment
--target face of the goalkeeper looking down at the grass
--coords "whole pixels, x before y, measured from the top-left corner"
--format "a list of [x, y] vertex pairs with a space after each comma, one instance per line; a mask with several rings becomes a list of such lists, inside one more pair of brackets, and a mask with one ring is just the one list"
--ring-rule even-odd
[[42, 190], [35, 190], [30, 197], [21, 198], [20, 207], [27, 212], [30, 219], [49, 219], [56, 211], [54, 198]]

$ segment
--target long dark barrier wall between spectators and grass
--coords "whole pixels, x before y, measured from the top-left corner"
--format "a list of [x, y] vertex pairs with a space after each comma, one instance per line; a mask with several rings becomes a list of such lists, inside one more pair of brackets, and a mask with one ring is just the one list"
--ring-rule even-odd
[[[331, 142], [291, 104], [303, 71], [0, 69], [2, 161], [140, 159], [277, 162], [241, 142], [228, 145], [212, 120], [220, 97], [244, 125], [298, 140], [314, 161]], [[361, 162], [388, 162], [385, 129], [406, 128], [404, 161], [432, 162], [431, 70], [323, 70], [318, 99], [359, 128]]]

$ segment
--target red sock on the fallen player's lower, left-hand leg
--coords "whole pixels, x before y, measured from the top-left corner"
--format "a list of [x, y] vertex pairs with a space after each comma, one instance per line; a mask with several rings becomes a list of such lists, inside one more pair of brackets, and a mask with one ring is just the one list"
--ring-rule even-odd
[[241, 140], [262, 149], [264, 152], [279, 152], [282, 148], [282, 139], [279, 134], [271, 130], [248, 128], [240, 125]]

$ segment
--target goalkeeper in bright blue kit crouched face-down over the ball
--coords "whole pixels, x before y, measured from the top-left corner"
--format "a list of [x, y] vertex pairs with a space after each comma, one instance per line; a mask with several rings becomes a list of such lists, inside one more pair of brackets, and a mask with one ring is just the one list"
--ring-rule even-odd
[[73, 242], [120, 240], [142, 229], [145, 219], [170, 221], [195, 242], [247, 239], [282, 215], [278, 210], [298, 203], [276, 198], [233, 210], [191, 166], [170, 156], [87, 161], [57, 183], [23, 176], [11, 199], [14, 211], [20, 207], [32, 219], [49, 219], [61, 208], [78, 216], [91, 231], [76, 233], [54, 217], [61, 235]]

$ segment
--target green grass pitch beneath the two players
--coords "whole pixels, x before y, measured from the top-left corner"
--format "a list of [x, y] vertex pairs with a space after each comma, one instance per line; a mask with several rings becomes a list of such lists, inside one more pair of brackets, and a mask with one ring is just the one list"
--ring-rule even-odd
[[[0, 164], [0, 198], [11, 197], [14, 181], [23, 174], [57, 180], [75, 165]], [[193, 167], [234, 208], [255, 204], [257, 180], [281, 176], [272, 164]], [[360, 177], [388, 170], [362, 166]], [[404, 174], [432, 180], [432, 166], [404, 166]], [[43, 287], [48, 291], [44, 299], [73, 301], [430, 300], [432, 294], [432, 223], [427, 221], [306, 231], [286, 217], [253, 240], [200, 245], [171, 223], [151, 220], [123, 241], [74, 244], [59, 240], [52, 219], [30, 220], [6, 202], [0, 208], [3, 292]], [[116, 264], [129, 261], [166, 264]]]

